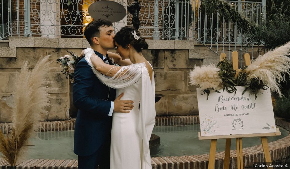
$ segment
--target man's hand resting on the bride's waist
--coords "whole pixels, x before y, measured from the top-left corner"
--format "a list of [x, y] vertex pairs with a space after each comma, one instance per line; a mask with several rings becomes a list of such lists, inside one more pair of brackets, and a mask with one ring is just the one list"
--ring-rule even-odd
[[119, 113], [129, 113], [129, 110], [133, 109], [133, 101], [132, 100], [120, 100], [121, 97], [124, 96], [124, 93], [120, 94], [115, 100], [114, 100], [114, 111], [113, 112], [119, 112]]

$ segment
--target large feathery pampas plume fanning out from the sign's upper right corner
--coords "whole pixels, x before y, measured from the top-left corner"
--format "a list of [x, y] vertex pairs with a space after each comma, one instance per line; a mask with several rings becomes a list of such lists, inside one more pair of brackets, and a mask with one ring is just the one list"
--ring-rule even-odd
[[280, 97], [280, 82], [284, 81], [285, 74], [290, 75], [290, 42], [270, 50], [259, 56], [246, 68], [248, 81], [252, 78], [263, 81], [271, 92], [276, 92]]

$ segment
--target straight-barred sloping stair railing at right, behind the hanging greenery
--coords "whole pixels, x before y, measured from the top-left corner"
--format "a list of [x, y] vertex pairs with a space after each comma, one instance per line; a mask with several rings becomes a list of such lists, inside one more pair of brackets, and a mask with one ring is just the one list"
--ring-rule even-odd
[[[201, 8], [200, 1], [194, 1], [193, 13], [197, 15], [194, 17], [192, 34], [195, 39], [203, 44], [206, 44], [210, 49], [213, 45], [216, 46], [215, 52], [222, 46], [222, 51], [227, 47], [228, 51], [240, 50], [246, 51], [248, 47], [259, 45], [248, 41], [248, 38], [236, 23], [229, 18], [225, 18], [217, 11], [217, 14], [206, 14]], [[231, 6], [235, 7], [239, 14], [246, 20], [252, 22], [256, 26], [261, 26], [266, 18], [266, 1], [261, 2], [247, 2], [247, 1], [226, 1]], [[196, 19], [197, 18], [197, 19]], [[228, 20], [228, 21], [226, 21]], [[219, 44], [219, 45], [218, 45]], [[232, 49], [231, 49], [232, 47]], [[253, 51], [253, 50], [252, 50]]]

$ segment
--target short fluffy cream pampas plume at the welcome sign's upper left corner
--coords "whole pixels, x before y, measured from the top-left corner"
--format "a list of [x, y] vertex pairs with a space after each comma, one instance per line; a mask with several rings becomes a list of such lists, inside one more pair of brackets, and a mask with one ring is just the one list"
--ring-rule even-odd
[[222, 80], [218, 76], [219, 69], [211, 65], [195, 66], [189, 73], [190, 85], [199, 86], [202, 89], [213, 88], [218, 90], [222, 88]]

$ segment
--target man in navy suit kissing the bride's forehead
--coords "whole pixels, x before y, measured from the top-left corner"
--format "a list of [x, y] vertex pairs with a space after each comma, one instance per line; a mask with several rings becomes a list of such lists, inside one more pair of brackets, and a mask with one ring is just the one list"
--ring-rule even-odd
[[[95, 53], [105, 63], [112, 65], [108, 50], [114, 49], [112, 22], [96, 20], [86, 26], [84, 35]], [[116, 54], [115, 54], [116, 56]], [[118, 56], [118, 55], [117, 55]], [[119, 65], [129, 65], [115, 57]], [[104, 85], [94, 75], [85, 58], [82, 58], [74, 72], [73, 104], [78, 109], [74, 134], [74, 153], [78, 155], [79, 169], [110, 169], [110, 136], [112, 113], [128, 113], [133, 101], [116, 98], [116, 90]]]

